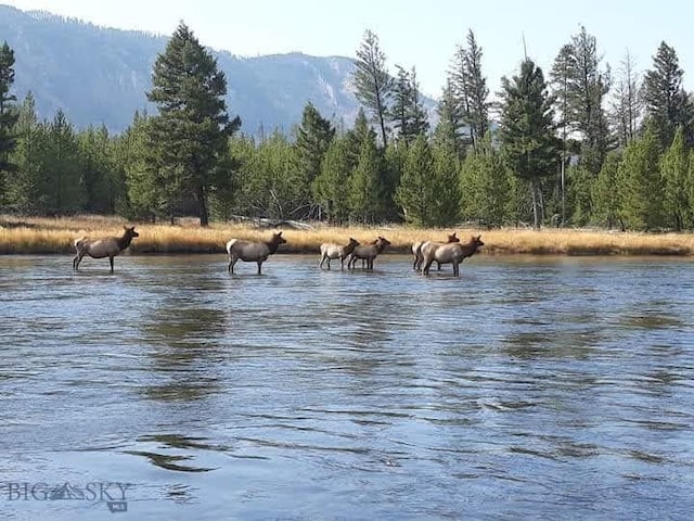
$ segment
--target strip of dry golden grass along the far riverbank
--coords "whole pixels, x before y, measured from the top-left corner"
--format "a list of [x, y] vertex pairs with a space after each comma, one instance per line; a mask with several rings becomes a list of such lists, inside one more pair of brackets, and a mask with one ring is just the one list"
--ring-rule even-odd
[[[79, 237], [117, 236], [129, 224], [118, 217], [80, 216], [65, 218], [0, 217], [0, 254], [67, 254]], [[137, 224], [140, 233], [130, 246], [131, 254], [157, 253], [224, 253], [231, 238], [264, 240], [273, 228], [258, 228], [250, 224], [213, 224], [201, 228], [192, 220], [181, 224]], [[457, 231], [462, 241], [481, 234], [483, 254], [556, 254], [556, 255], [693, 255], [692, 233], [635, 233], [574, 229], [500, 229], [468, 228], [417, 229], [402, 226], [327, 227], [284, 229], [286, 244], [281, 253], [317, 253], [323, 242], [347, 243], [350, 237], [360, 242], [387, 238], [389, 251], [409, 253], [415, 241], [445, 240]]]

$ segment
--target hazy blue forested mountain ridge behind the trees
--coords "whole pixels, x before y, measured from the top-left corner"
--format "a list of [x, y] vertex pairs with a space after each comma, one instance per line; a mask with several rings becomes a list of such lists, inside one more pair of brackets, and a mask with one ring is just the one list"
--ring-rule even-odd
[[[169, 36], [9, 5], [0, 5], [0, 35], [15, 55], [11, 92], [21, 102], [30, 91], [40, 119], [61, 109], [77, 128], [103, 124], [120, 132], [136, 111], [156, 112], [146, 92]], [[359, 103], [350, 87], [352, 59], [300, 51], [249, 58], [207, 49], [227, 76], [227, 106], [241, 116], [244, 134], [288, 132], [309, 101], [336, 126], [354, 123]], [[426, 101], [433, 110], [434, 101]]]

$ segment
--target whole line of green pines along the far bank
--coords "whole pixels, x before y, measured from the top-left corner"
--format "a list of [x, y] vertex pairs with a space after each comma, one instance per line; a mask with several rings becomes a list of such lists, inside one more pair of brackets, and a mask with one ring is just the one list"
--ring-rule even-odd
[[[549, 74], [531, 60], [497, 101], [470, 31], [451, 60], [436, 125], [416, 71], [391, 75], [377, 37], [357, 51], [362, 105], [348, 130], [307, 103], [291, 132], [254, 138], [223, 101], [224, 75], [181, 24], [153, 68], [158, 112], [130, 127], [39, 122], [12, 96], [14, 53], [0, 48], [0, 202], [22, 214], [133, 219], [234, 215], [332, 224], [694, 227], [694, 103], [663, 42], [645, 74], [616, 73], [582, 28]], [[232, 78], [233, 79], [233, 78]]]

